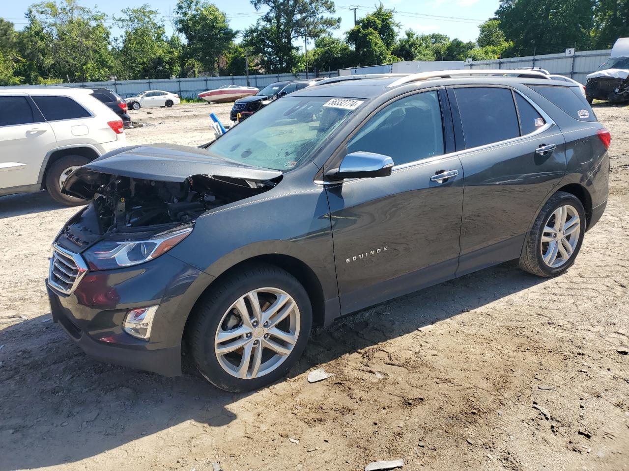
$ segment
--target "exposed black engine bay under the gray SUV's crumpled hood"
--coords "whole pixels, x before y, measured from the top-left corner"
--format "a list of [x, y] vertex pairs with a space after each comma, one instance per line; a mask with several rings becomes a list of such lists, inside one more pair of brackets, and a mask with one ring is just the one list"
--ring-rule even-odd
[[90, 172], [68, 193], [94, 195], [92, 202], [62, 234], [77, 247], [89, 246], [105, 234], [157, 234], [192, 222], [208, 210], [264, 193], [276, 183], [211, 175], [189, 176], [179, 183]]

